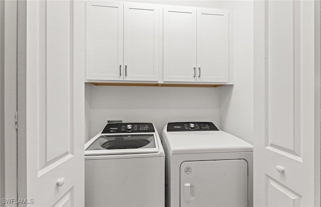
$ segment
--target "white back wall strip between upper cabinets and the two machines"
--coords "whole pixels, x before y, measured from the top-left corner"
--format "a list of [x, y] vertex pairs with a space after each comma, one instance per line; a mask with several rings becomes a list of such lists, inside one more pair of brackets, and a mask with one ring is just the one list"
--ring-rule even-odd
[[218, 98], [218, 88], [86, 84], [87, 140], [103, 129], [105, 118], [109, 117], [124, 117], [125, 122], [152, 122], [159, 134], [166, 123], [176, 121], [211, 121], [219, 127]]

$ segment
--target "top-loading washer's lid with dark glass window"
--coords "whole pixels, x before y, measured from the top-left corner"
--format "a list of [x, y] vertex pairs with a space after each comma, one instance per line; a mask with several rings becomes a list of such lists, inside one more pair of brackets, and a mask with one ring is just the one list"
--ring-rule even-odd
[[85, 155], [158, 152], [153, 133], [100, 134], [85, 148]]

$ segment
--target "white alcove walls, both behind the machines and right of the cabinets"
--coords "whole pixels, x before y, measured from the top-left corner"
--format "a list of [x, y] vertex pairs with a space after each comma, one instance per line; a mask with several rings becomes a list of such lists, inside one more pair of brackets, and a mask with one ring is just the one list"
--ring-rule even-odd
[[86, 84], [87, 140], [102, 129], [105, 118], [124, 117], [128, 122], [153, 122], [160, 134], [170, 121], [213, 121], [220, 129], [253, 143], [253, 1], [127, 2], [229, 10], [229, 66], [234, 68], [234, 85], [167, 88]]

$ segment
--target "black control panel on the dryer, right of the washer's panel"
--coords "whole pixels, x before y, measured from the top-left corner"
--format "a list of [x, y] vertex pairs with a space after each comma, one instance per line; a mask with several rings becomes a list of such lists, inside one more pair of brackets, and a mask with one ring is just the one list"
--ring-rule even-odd
[[168, 123], [167, 131], [218, 131], [212, 122], [173, 122]]

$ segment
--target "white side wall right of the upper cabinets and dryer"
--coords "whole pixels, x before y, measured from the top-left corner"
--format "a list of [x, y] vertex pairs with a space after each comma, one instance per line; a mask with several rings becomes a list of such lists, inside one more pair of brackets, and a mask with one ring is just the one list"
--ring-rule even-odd
[[234, 86], [220, 87], [221, 129], [253, 144], [253, 1], [225, 1], [234, 11]]

